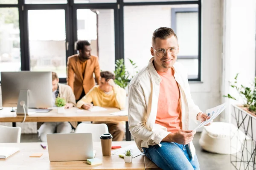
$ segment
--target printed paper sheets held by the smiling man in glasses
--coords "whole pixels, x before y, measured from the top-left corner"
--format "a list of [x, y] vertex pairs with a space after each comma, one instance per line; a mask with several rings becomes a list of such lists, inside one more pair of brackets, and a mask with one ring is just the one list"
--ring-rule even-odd
[[225, 108], [226, 104], [223, 103], [222, 105], [218, 105], [214, 108], [207, 109], [205, 113], [210, 117], [210, 119], [207, 119], [206, 121], [202, 122], [200, 125], [198, 125], [198, 127], [194, 129], [194, 131], [200, 127], [203, 127], [204, 125], [207, 125], [209, 122], [215, 119], [221, 112], [223, 112]]

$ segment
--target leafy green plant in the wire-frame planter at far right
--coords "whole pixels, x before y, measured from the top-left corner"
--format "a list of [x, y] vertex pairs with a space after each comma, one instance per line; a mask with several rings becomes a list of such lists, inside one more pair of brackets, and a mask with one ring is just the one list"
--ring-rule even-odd
[[[235, 88], [239, 95], [242, 97], [242, 99], [245, 101], [244, 107], [248, 108], [249, 111], [256, 114], [256, 77], [251, 87], [245, 87], [244, 85], [239, 86], [237, 84], [237, 77], [238, 74], [236, 74], [234, 82], [229, 82], [230, 86], [232, 88]], [[236, 98], [231, 96], [230, 94], [224, 95], [224, 97], [236, 100]]]

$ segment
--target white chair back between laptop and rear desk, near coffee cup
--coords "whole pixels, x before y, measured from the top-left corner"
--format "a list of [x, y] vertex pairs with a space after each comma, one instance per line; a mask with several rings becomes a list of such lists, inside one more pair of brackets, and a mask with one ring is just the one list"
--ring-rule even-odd
[[104, 133], [108, 133], [108, 126], [106, 124], [80, 123], [76, 127], [75, 133], [92, 133], [93, 142], [100, 142], [99, 137]]

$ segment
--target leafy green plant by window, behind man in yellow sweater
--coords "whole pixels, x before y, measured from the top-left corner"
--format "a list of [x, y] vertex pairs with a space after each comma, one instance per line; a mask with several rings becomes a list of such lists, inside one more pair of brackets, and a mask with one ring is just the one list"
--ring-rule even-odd
[[[131, 59], [129, 59], [129, 61], [135, 70], [137, 68], [136, 63], [134, 63]], [[134, 75], [131, 75], [127, 71], [125, 67], [124, 59], [117, 59], [115, 66], [116, 66], [116, 70], [114, 71], [114, 74], [116, 76], [116, 79], [114, 80], [114, 82], [117, 85], [119, 85], [121, 88], [125, 88], [126, 86], [128, 86], [129, 82], [134, 77]], [[138, 71], [136, 71], [136, 74], [137, 73]]]

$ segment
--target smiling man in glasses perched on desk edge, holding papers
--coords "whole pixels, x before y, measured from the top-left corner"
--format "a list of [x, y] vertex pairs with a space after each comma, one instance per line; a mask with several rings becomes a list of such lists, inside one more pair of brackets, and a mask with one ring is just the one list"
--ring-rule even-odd
[[178, 40], [171, 28], [154, 31], [148, 66], [128, 87], [129, 130], [141, 151], [163, 170], [199, 170], [189, 119], [209, 119], [193, 102]]

